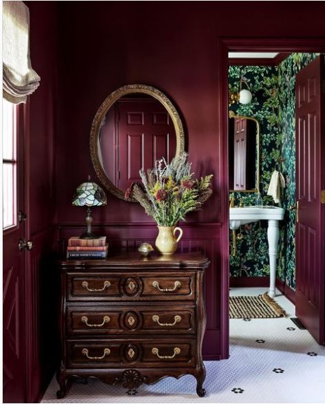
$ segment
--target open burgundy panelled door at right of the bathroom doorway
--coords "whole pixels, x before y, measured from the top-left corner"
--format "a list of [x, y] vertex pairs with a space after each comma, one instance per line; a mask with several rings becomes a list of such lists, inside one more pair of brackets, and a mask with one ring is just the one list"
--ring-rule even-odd
[[296, 76], [296, 315], [324, 344], [325, 120], [324, 56]]

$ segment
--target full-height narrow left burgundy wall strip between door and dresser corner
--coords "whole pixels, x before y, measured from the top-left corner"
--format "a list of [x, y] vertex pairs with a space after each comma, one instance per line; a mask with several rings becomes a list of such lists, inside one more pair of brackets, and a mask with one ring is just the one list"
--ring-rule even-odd
[[[41, 85], [29, 97], [26, 123], [25, 209], [26, 253], [26, 387], [27, 402], [37, 402], [52, 378], [58, 351], [56, 312], [58, 277], [56, 248], [55, 138], [57, 104], [56, 2], [26, 1], [30, 10], [30, 56]], [[28, 110], [29, 109], [29, 110]]]

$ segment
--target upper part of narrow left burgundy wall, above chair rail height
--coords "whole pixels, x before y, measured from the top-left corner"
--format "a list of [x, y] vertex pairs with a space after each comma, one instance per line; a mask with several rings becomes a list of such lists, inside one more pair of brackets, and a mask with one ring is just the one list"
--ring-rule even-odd
[[41, 84], [30, 96], [30, 234], [56, 222], [55, 153], [57, 103], [56, 3], [26, 1], [30, 9], [32, 67]]

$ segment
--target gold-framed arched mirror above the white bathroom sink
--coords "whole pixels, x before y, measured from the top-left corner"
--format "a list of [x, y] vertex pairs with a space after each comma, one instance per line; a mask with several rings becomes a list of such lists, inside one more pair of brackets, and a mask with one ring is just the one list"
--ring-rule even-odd
[[260, 192], [260, 124], [229, 111], [229, 191]]

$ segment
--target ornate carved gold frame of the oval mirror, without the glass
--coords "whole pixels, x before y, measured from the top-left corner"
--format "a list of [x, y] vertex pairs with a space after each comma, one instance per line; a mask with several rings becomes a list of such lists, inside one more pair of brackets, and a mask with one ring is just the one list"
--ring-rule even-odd
[[[124, 85], [116, 89], [112, 92], [100, 105], [98, 111], [96, 112], [95, 118], [93, 118], [93, 123], [91, 124], [91, 132], [90, 132], [90, 155], [91, 161], [93, 162], [93, 168], [96, 171], [96, 176], [100, 179], [104, 187], [107, 191], [111, 192], [117, 198], [122, 200], [126, 200], [124, 198], [124, 191], [115, 187], [115, 185], [109, 180], [107, 174], [105, 173], [102, 164], [100, 164], [100, 158], [98, 154], [98, 145], [99, 145], [99, 134], [100, 134], [100, 124], [102, 123], [102, 119], [107, 114], [107, 111], [111, 106], [115, 103], [116, 100], [125, 96], [126, 94], [147, 94], [156, 98], [168, 111], [170, 118], [172, 118], [172, 123], [175, 127], [175, 134], [176, 134], [176, 152], [175, 156], [179, 156], [180, 153], [184, 151], [185, 145], [185, 136], [184, 136], [184, 129], [183, 124], [181, 123], [181, 118], [174, 107], [172, 105], [170, 99], [162, 92], [160, 92], [157, 88], [151, 87], [150, 85], [143, 85], [143, 84], [130, 84]], [[128, 202], [137, 202], [134, 199], [126, 200]]]

